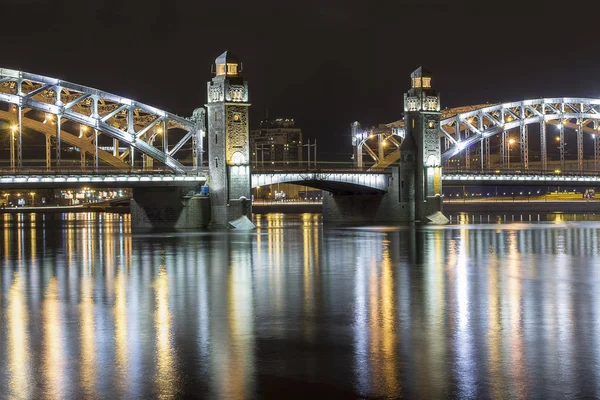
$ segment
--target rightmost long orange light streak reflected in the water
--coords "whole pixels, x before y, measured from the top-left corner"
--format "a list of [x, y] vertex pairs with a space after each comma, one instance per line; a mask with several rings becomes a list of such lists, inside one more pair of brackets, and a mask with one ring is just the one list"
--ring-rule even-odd
[[517, 233], [512, 231], [508, 234], [508, 254], [504, 257], [506, 263], [506, 275], [508, 277], [508, 312], [507, 326], [510, 326], [508, 343], [510, 346], [510, 370], [512, 375], [513, 396], [518, 398], [527, 397], [527, 377], [525, 376], [525, 354], [523, 348], [523, 325], [522, 325], [522, 295], [521, 287], [522, 265], [519, 248], [517, 246]]

